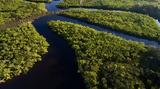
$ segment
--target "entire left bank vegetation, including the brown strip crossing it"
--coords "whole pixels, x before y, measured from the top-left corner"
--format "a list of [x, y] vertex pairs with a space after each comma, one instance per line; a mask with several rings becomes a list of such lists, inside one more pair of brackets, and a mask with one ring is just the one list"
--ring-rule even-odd
[[47, 10], [33, 1], [0, 1], [0, 84], [26, 74], [47, 53], [48, 42], [30, 22]]

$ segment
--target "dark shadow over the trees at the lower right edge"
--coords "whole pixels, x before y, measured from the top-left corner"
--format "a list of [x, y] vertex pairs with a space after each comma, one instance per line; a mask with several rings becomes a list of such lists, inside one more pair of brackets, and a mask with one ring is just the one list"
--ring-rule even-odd
[[150, 48], [140, 60], [140, 66], [142, 68], [141, 79], [146, 89], [158, 89], [160, 87], [160, 49]]

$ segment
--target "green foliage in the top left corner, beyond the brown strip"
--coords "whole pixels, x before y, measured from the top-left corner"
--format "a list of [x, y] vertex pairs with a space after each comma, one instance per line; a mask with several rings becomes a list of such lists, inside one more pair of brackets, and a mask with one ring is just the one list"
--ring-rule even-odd
[[45, 12], [44, 3], [34, 3], [23, 0], [0, 1], [0, 25], [7, 21], [37, 16]]

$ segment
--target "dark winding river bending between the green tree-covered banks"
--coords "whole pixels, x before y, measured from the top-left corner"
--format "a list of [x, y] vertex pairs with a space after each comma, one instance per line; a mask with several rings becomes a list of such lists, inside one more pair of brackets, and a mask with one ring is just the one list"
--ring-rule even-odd
[[[46, 9], [49, 12], [61, 10], [56, 7], [61, 1], [62, 0], [54, 0], [52, 3], [46, 4]], [[47, 22], [51, 20], [77, 23], [99, 31], [110, 32], [127, 40], [144, 42], [146, 45], [160, 47], [160, 44], [156, 41], [137, 38], [110, 29], [87, 24], [76, 19], [58, 15], [43, 16], [34, 20], [33, 25], [49, 42], [50, 47], [48, 53], [43, 57], [41, 62], [35, 64], [28, 74], [21, 75], [0, 85], [0, 89], [85, 89], [83, 78], [77, 73], [74, 50], [65, 39], [48, 28]], [[160, 23], [158, 24], [160, 25]]]

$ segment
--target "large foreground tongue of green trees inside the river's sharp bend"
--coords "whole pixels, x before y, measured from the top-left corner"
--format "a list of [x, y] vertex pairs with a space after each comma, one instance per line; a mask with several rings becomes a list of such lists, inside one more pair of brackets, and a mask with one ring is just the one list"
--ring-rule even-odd
[[160, 51], [78, 24], [51, 21], [49, 26], [75, 50], [87, 89], [160, 87]]

